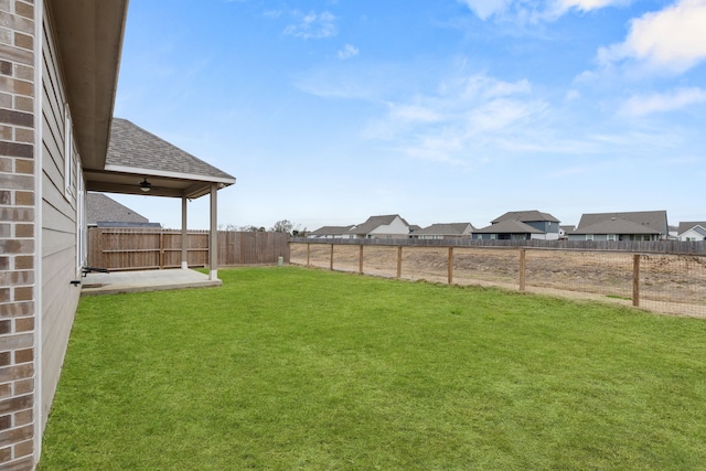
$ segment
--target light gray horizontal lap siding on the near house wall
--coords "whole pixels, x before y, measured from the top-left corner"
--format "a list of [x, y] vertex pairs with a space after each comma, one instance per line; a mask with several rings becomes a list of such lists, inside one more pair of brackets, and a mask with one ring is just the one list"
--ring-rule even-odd
[[[58, 383], [81, 289], [76, 274], [76, 194], [66, 197], [64, 81], [46, 11], [42, 43], [42, 424]], [[77, 172], [75, 165], [72, 172]], [[76, 182], [74, 173], [72, 181]]]

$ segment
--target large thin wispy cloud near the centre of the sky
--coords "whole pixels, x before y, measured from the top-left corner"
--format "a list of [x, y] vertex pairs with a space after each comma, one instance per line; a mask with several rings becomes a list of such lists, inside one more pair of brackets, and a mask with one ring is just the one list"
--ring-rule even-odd
[[532, 96], [526, 79], [474, 74], [387, 108], [387, 116], [368, 127], [367, 138], [393, 142], [414, 158], [458, 164], [478, 160], [486, 149], [525, 144], [520, 141], [531, 135], [527, 127], [541, 120], [547, 105]]

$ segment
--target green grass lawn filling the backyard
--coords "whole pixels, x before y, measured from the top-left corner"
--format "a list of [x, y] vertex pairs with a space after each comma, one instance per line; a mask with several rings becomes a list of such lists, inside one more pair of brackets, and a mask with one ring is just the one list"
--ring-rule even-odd
[[296, 267], [82, 299], [40, 470], [705, 469], [706, 322]]

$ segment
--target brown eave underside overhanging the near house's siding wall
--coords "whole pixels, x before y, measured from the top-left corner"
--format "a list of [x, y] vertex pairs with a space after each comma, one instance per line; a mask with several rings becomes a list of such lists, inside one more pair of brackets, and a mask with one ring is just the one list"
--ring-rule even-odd
[[82, 167], [103, 169], [118, 84], [128, 0], [46, 2]]

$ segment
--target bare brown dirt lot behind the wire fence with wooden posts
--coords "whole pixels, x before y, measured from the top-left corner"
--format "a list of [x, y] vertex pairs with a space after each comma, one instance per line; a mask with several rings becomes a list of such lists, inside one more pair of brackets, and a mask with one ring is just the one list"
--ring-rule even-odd
[[[357, 245], [310, 244], [309, 265], [361, 271]], [[633, 254], [611, 251], [525, 250], [525, 290], [574, 299], [597, 299], [632, 306]], [[307, 244], [290, 245], [292, 264], [307, 265]], [[405, 246], [400, 278], [448, 282], [447, 247]], [[640, 256], [640, 307], [657, 312], [706, 318], [706, 257]], [[398, 247], [363, 247], [365, 275], [397, 277]], [[516, 248], [454, 247], [452, 282], [520, 288]]]

